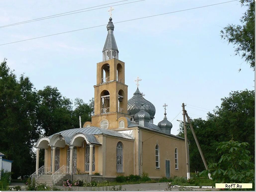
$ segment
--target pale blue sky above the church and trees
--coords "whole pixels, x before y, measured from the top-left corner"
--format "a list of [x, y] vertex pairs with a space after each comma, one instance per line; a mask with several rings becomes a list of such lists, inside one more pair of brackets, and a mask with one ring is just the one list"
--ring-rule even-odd
[[134, 1], [2, 0], [1, 26], [111, 4], [101, 6], [106, 7], [102, 9], [0, 28], [0, 44], [4, 44], [104, 25], [2, 45], [0, 60], [7, 58], [17, 77], [24, 73], [37, 90], [50, 85], [65, 97], [82, 98], [87, 103], [94, 97], [96, 64], [102, 61], [107, 35], [107, 10], [113, 6], [114, 36], [119, 60], [125, 62], [128, 99], [136, 91], [134, 80], [139, 76], [140, 91], [156, 108], [154, 124], [163, 120], [166, 103], [167, 118], [173, 124], [171, 133], [176, 135], [179, 129], [176, 120], [183, 120], [183, 102], [191, 118], [206, 119], [207, 112], [220, 106], [221, 98], [228, 97], [231, 91], [254, 89], [254, 72], [249, 64], [235, 55], [233, 46], [220, 37], [223, 27], [240, 24], [246, 7], [241, 7], [239, 1], [115, 24], [228, 0], [146, 0], [118, 5]]

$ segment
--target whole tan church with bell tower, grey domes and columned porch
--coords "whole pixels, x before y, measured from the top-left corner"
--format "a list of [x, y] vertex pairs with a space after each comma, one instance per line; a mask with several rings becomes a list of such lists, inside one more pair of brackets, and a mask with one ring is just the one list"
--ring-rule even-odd
[[[82, 128], [40, 137], [35, 145], [35, 178], [42, 174], [89, 174], [103, 177], [142, 175], [187, 176], [185, 139], [170, 134], [172, 123], [154, 122], [155, 106], [137, 89], [128, 99], [125, 63], [119, 60], [114, 25], [109, 18], [102, 60], [97, 63], [94, 115]], [[166, 104], [164, 109], [166, 109]], [[39, 168], [39, 149], [44, 166]]]

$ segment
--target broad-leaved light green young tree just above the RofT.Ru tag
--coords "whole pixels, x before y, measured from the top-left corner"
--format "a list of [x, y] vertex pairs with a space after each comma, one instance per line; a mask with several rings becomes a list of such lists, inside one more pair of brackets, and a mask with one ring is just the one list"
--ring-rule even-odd
[[255, 166], [251, 162], [250, 151], [246, 149], [248, 145], [247, 142], [233, 140], [220, 142], [216, 149], [221, 155], [218, 163], [210, 164], [209, 170], [199, 175], [210, 173], [215, 183], [252, 183], [253, 188], [249, 190], [254, 190]]

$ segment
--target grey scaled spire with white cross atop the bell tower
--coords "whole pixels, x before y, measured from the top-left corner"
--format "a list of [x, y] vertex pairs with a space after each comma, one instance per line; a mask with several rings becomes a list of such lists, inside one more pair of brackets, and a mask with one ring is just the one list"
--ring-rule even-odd
[[115, 37], [114, 37], [114, 24], [112, 22], [112, 11], [114, 10], [113, 7], [110, 7], [108, 12], [110, 12], [110, 18], [107, 25], [108, 35], [102, 50], [103, 53], [103, 61], [110, 60], [113, 58], [118, 59], [118, 48], [116, 46]]

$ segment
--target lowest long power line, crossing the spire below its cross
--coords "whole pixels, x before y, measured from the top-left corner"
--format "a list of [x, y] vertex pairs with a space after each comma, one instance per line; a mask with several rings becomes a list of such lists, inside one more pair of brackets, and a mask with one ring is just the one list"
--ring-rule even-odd
[[[238, 1], [238, 0], [233, 0], [233, 1]], [[223, 3], [229, 3], [229, 2], [233, 2], [233, 1], [227, 1], [227, 2], [223, 2]], [[179, 11], [174, 11], [174, 12], [169, 12], [169, 13], [163, 13], [163, 14], [158, 14], [158, 15], [151, 15], [151, 16], [147, 16], [147, 17], [140, 17], [140, 18], [136, 18], [136, 19], [129, 19], [129, 20], [125, 20], [125, 21], [115, 22], [114, 24], [122, 23], [122, 22], [127, 22], [127, 21], [138, 20], [138, 19], [144, 19], [144, 18], [149, 18], [149, 17], [155, 17], [155, 16], [160, 16], [160, 15], [166, 15], [166, 14], [171, 14], [171, 13], [177, 13], [177, 12], [182, 12], [182, 11], [187, 11], [187, 10], [192, 10], [192, 9], [198, 9], [198, 8], [203, 8], [203, 7], [209, 7], [209, 6], [219, 5], [219, 4], [223, 4], [223, 3], [217, 3], [217, 4], [212, 4], [212, 5], [206, 5], [206, 6], [201, 6], [201, 7], [195, 7], [195, 8], [190, 8], [190, 9], [183, 9], [183, 10], [179, 10]], [[21, 41], [15, 41], [15, 42], [11, 42], [11, 43], [4, 43], [4, 44], [0, 44], [0, 46], [2, 46], [2, 45], [7, 45], [7, 44], [12, 44], [12, 43], [18, 43], [18, 42], [22, 42], [22, 41], [33, 40], [33, 39], [39, 39], [39, 38], [43, 38], [43, 37], [49, 37], [49, 36], [54, 36], [54, 35], [60, 35], [60, 34], [63, 34], [63, 33], [69, 33], [69, 32], [74, 32], [74, 31], [80, 31], [80, 30], [84, 30], [84, 29], [91, 29], [91, 28], [101, 27], [101, 26], [105, 26], [105, 25], [106, 25], [106, 24], [104, 24], [104, 25], [98, 25], [98, 26], [94, 26], [94, 27], [87, 27], [87, 28], [83, 28], [83, 29], [72, 30], [72, 31], [66, 31], [66, 32], [61, 32], [61, 33], [56, 33], [56, 34], [52, 34], [52, 35], [46, 35], [46, 36], [41, 36], [41, 37], [35, 37], [35, 38], [25, 39], [25, 40], [21, 40]], [[191, 107], [190, 107], [190, 108], [191, 108]], [[200, 109], [198, 109], [198, 110], [200, 110]], [[205, 111], [205, 112], [208, 112], [208, 111]]]

